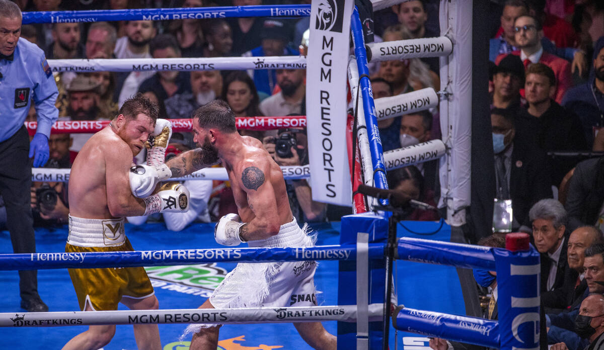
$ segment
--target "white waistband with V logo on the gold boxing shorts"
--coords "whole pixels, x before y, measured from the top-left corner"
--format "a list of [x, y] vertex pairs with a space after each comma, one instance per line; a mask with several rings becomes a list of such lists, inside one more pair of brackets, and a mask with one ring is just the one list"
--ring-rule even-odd
[[78, 247], [121, 246], [126, 241], [124, 218], [86, 219], [69, 215], [67, 243]]

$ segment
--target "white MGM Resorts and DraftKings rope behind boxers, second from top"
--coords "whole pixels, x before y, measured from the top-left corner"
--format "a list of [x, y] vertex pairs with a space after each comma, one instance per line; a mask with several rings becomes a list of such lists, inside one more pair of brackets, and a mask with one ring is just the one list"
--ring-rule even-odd
[[211, 57], [179, 59], [48, 60], [53, 72], [214, 71], [306, 69], [306, 56]]

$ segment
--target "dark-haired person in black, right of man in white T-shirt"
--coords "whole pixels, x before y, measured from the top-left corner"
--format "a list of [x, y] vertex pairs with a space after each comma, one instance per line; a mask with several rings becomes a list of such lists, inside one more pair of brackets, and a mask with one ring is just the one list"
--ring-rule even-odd
[[[170, 34], [161, 34], [153, 38], [149, 43], [151, 56], [154, 59], [173, 59], [181, 57], [175, 37]], [[159, 101], [159, 107], [165, 109], [164, 101], [176, 94], [184, 94], [191, 91], [190, 77], [187, 72], [159, 71], [147, 78], [138, 88], [138, 92], [144, 94], [152, 92]]]

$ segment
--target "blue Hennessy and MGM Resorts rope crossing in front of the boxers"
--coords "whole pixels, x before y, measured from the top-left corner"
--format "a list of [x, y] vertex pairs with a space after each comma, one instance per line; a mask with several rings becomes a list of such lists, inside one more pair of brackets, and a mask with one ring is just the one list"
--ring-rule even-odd
[[[383, 243], [369, 244], [369, 257], [384, 257]], [[356, 246], [138, 250], [133, 252], [0, 254], [0, 270], [91, 269], [202, 263], [355, 260]]]

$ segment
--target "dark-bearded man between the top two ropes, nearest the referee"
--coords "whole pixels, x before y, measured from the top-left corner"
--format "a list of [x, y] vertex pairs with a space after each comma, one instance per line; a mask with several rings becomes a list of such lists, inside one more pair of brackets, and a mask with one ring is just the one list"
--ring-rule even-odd
[[53, 24], [53, 42], [46, 48], [47, 59], [83, 59], [84, 45], [80, 42], [82, 24], [55, 23]]

